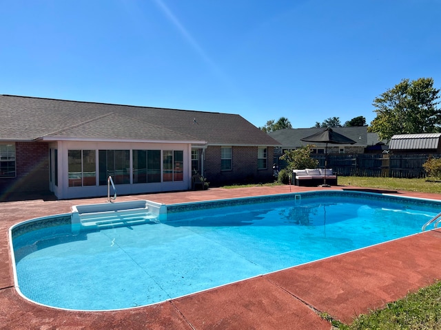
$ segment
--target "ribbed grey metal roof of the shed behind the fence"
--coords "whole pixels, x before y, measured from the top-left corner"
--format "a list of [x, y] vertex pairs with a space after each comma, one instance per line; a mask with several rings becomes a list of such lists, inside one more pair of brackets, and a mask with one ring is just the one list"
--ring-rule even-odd
[[437, 149], [440, 145], [441, 133], [398, 134], [391, 137], [389, 149]]

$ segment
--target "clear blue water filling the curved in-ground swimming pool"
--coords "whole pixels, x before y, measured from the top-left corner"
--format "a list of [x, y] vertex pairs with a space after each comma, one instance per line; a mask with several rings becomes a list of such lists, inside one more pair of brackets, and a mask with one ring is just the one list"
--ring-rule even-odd
[[440, 210], [435, 201], [309, 192], [170, 206], [162, 223], [79, 234], [45, 219], [13, 232], [17, 281], [52, 307], [149, 305], [415, 234]]

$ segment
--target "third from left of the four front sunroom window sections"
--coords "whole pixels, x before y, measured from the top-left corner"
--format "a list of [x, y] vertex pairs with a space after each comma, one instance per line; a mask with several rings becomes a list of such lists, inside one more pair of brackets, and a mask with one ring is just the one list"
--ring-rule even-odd
[[133, 151], [133, 183], [161, 182], [161, 151]]

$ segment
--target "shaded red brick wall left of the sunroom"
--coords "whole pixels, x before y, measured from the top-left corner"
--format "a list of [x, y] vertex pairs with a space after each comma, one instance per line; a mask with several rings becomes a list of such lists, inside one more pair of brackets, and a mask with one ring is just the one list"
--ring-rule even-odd
[[16, 142], [15, 159], [17, 176], [0, 179], [0, 195], [21, 192], [48, 192], [48, 144], [44, 142]]

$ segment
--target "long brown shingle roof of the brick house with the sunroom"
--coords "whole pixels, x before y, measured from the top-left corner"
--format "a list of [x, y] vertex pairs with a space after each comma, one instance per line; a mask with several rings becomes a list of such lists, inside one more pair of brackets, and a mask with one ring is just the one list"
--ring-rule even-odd
[[0, 113], [0, 140], [88, 137], [278, 145], [240, 115], [229, 113], [6, 95], [0, 96]]

